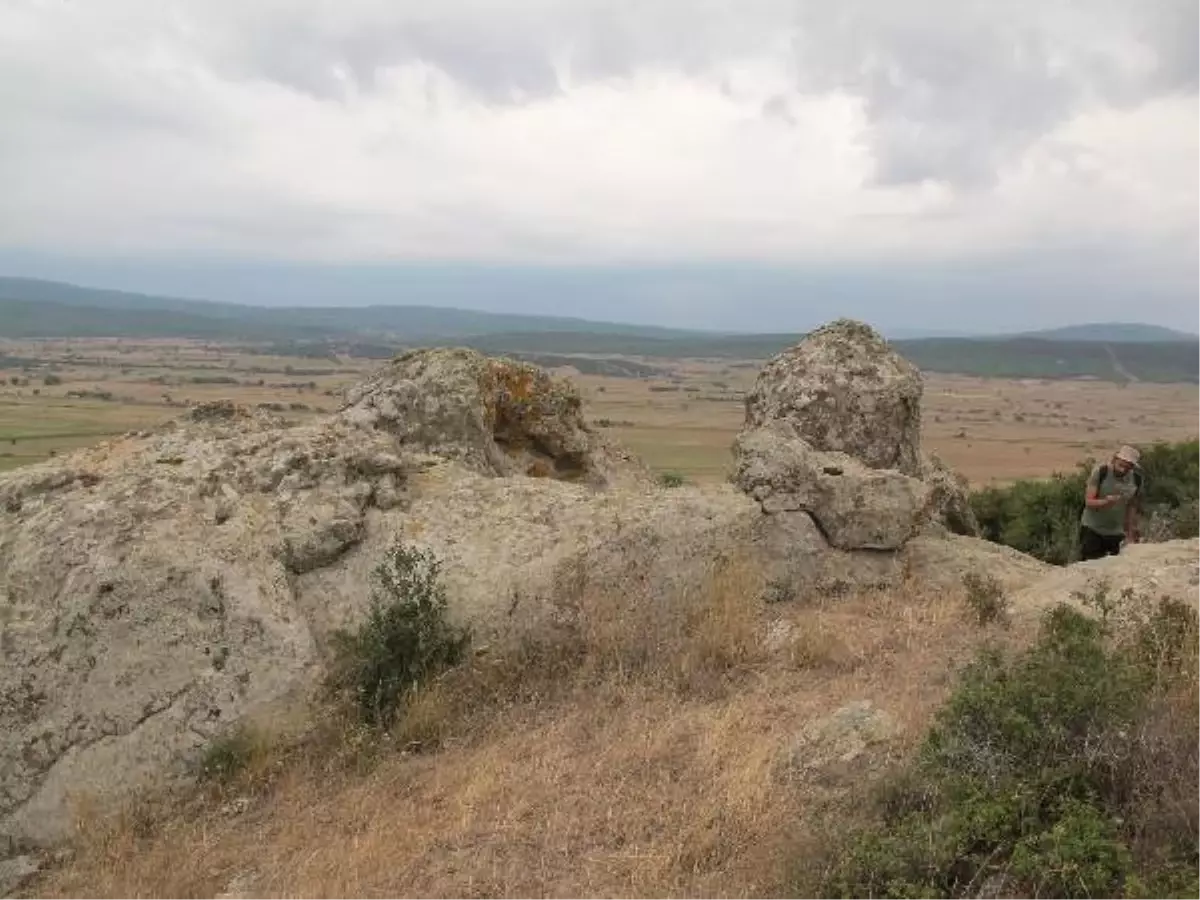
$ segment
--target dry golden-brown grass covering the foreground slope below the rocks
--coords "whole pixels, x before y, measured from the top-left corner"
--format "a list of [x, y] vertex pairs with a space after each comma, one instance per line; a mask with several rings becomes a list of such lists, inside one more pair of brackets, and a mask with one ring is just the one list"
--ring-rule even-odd
[[[430, 686], [370, 767], [326, 726], [166, 821], [92, 821], [36, 895], [804, 895], [815, 811], [905, 752], [982, 632], [960, 596], [762, 607], [755, 578], [733, 560], [690, 594], [584, 592], [569, 628]], [[782, 767], [859, 698], [904, 737], [816, 780]]]

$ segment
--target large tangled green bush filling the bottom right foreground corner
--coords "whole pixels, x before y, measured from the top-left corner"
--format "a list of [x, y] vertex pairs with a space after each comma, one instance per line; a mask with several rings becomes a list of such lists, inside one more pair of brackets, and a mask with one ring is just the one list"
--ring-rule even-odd
[[[1200, 619], [1183, 604], [1098, 598], [1050, 610], [1038, 642], [986, 649], [914, 763], [839, 847], [829, 898], [1200, 895]], [[1171, 827], [1160, 826], [1164, 798]], [[990, 895], [990, 894], [989, 894]]]

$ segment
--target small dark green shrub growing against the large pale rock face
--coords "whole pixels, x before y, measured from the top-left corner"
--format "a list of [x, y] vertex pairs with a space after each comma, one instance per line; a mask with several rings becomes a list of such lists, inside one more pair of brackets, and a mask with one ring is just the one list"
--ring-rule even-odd
[[334, 636], [330, 682], [370, 726], [388, 727], [424, 682], [458, 664], [470, 635], [446, 618], [440, 563], [397, 542], [374, 570], [367, 617]]

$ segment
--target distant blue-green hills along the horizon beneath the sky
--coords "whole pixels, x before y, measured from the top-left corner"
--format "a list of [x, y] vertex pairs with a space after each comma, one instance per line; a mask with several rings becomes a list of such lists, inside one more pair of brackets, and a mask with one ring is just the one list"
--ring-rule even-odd
[[[888, 338], [931, 372], [992, 377], [1200, 382], [1200, 336], [1140, 323], [1010, 335], [917, 330]], [[251, 341], [323, 356], [336, 346], [386, 356], [454, 343], [486, 353], [766, 359], [800, 334], [728, 334], [488, 313], [437, 306], [260, 307], [0, 277], [0, 337], [178, 337]]]

